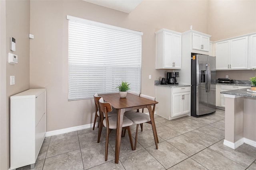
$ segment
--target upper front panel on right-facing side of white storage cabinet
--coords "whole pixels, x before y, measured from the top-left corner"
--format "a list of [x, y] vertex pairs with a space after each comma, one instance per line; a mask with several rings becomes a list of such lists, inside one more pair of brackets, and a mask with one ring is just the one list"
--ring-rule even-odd
[[40, 121], [42, 115], [45, 113], [45, 92], [36, 97], [36, 112], [35, 112], [35, 126]]

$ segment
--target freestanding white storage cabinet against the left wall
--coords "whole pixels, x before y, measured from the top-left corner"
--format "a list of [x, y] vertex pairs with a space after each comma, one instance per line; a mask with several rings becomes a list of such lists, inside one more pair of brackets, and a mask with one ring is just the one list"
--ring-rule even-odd
[[10, 97], [10, 169], [34, 168], [46, 133], [46, 89]]

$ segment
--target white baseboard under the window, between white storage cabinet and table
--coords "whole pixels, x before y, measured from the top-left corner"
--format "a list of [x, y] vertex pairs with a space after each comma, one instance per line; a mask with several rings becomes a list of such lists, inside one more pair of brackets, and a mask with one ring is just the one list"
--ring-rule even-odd
[[[96, 123], [95, 127], [98, 126], [98, 122]], [[68, 133], [68, 132], [73, 132], [73, 131], [79, 131], [82, 129], [88, 129], [88, 128], [92, 128], [93, 127], [93, 123], [90, 124], [86, 124], [86, 125], [80, 125], [80, 126], [75, 126], [75, 127], [68, 127], [65, 129], [59, 129], [59, 130], [55, 130], [55, 131], [48, 131], [45, 134], [45, 137], [49, 137], [49, 136], [53, 136], [53, 135], [60, 135], [63, 133]]]

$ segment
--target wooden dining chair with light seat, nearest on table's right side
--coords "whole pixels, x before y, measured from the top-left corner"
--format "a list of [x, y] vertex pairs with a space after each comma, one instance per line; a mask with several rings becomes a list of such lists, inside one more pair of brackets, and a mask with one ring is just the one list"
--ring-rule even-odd
[[[145, 94], [140, 94], [140, 97], [142, 98], [147, 98], [149, 100], [154, 100], [155, 101], [155, 97], [151, 97], [151, 96], [147, 96]], [[154, 107], [153, 107], [153, 113], [154, 113]], [[142, 112], [134, 112], [134, 113], [128, 113], [126, 115], [126, 117], [128, 119], [130, 119], [133, 123], [137, 124], [137, 127], [136, 127], [136, 136], [135, 136], [135, 144], [134, 144], [134, 150], [136, 150], [136, 145], [137, 145], [137, 137], [138, 137], [138, 127], [140, 125], [141, 127], [141, 131], [143, 130], [142, 127], [143, 127], [143, 123], [150, 123], [151, 124], [151, 119], [150, 119], [150, 115], [146, 114], [146, 113], [143, 113]], [[123, 136], [125, 135], [125, 131], [123, 133]], [[158, 142], [158, 139], [157, 139], [157, 142]], [[159, 143], [159, 142], [158, 142]]]

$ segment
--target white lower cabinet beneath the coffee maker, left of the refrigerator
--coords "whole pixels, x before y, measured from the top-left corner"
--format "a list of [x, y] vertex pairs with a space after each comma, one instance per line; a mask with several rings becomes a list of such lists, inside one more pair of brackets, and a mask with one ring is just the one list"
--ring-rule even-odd
[[156, 86], [156, 114], [168, 120], [190, 115], [191, 87]]

